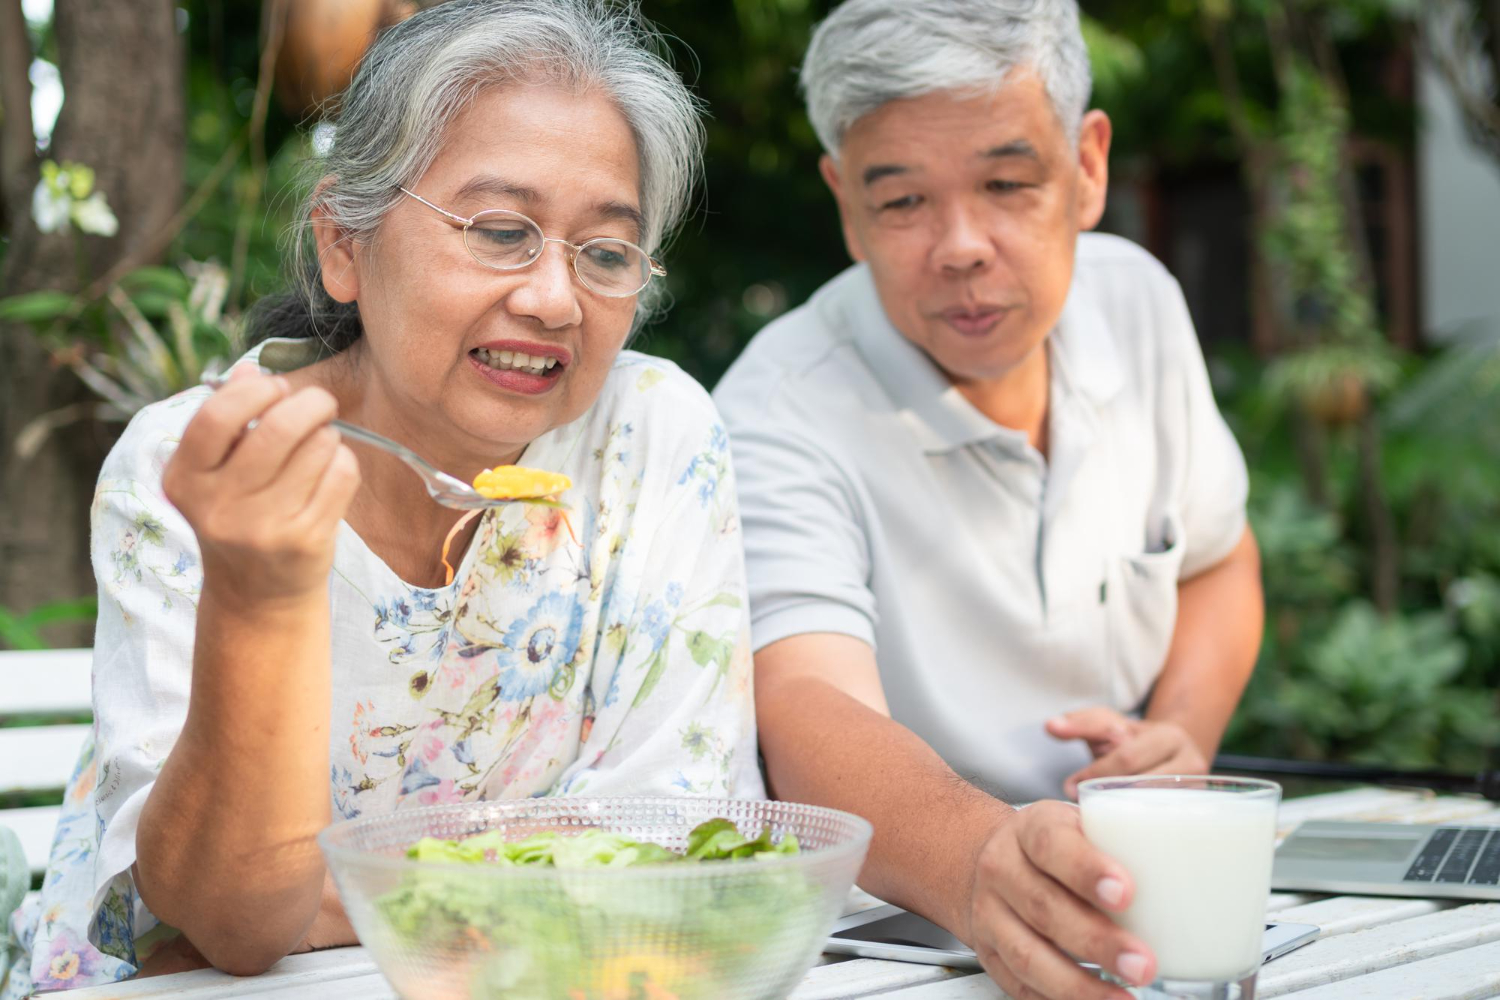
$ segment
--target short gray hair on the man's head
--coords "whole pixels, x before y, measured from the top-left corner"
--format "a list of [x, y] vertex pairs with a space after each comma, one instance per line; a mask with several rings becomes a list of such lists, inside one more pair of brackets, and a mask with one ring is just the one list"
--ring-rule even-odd
[[802, 93], [834, 159], [849, 126], [891, 100], [1041, 78], [1077, 141], [1094, 87], [1076, 0], [848, 0], [813, 31]]

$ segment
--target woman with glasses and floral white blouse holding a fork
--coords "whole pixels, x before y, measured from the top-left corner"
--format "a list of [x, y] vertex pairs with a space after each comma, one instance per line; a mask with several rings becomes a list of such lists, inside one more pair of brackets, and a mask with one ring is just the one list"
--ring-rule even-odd
[[[453, 0], [370, 49], [309, 199], [316, 286], [99, 481], [98, 735], [4, 996], [351, 943], [330, 819], [538, 795], [759, 796], [724, 432], [621, 351], [694, 102], [592, 0]], [[339, 415], [570, 523], [465, 525]]]

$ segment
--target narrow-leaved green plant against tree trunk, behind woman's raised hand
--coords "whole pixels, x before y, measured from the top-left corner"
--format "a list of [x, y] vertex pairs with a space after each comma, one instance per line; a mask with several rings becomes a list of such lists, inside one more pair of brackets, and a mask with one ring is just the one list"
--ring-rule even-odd
[[[108, 312], [93, 309], [72, 321], [72, 295], [30, 292], [0, 300], [0, 321], [38, 327], [51, 339], [54, 360], [70, 367], [99, 397], [98, 403], [76, 403], [32, 420], [16, 435], [16, 453], [30, 457], [48, 435], [78, 420], [126, 421], [142, 406], [225, 369], [243, 349], [243, 319], [225, 312], [228, 291], [224, 267], [186, 261], [180, 270], [132, 271], [105, 294]], [[99, 322], [100, 313], [102, 334], [76, 333]], [[64, 325], [58, 328], [58, 322]]]

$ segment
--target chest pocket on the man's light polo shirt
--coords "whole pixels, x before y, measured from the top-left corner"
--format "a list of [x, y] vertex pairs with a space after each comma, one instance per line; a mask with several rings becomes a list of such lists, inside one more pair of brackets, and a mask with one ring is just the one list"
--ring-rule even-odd
[[1154, 519], [1142, 552], [1108, 559], [1106, 567], [1106, 657], [1114, 708], [1140, 706], [1161, 673], [1178, 624], [1182, 571], [1182, 522]]

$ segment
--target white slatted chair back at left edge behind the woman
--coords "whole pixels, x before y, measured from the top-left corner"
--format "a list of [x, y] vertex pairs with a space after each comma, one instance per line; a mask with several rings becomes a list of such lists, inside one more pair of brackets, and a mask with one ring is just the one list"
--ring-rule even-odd
[[[0, 652], [0, 723], [88, 715], [92, 663], [92, 649]], [[0, 727], [0, 795], [26, 792], [52, 802], [0, 808], [0, 826], [21, 838], [33, 874], [46, 868], [63, 786], [87, 735], [87, 724]]]

